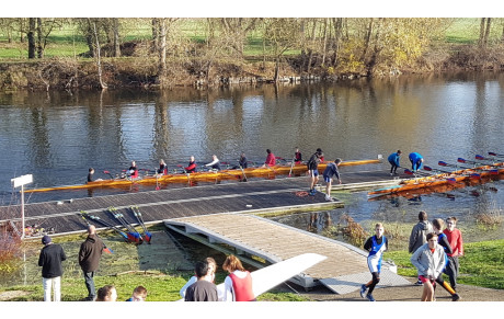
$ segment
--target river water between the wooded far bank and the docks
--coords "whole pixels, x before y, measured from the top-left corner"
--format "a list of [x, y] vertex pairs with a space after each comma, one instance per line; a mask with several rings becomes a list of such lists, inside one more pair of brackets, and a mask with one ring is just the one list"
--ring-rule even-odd
[[[139, 168], [154, 169], [162, 158], [172, 169], [187, 164], [190, 156], [199, 163], [209, 162], [214, 153], [221, 161], [236, 162], [244, 151], [249, 160], [261, 162], [266, 148], [291, 158], [299, 147], [307, 159], [320, 147], [327, 158], [344, 160], [387, 157], [401, 149], [404, 166], [408, 153], [417, 151], [427, 164], [437, 167], [439, 160], [504, 153], [503, 101], [504, 75], [496, 72], [210, 91], [2, 93], [0, 204], [19, 203], [10, 181], [14, 176], [33, 174], [31, 187], [80, 184], [90, 167], [96, 178], [107, 178], [104, 170], [119, 173], [131, 160]], [[96, 190], [92, 195], [151, 189]], [[469, 224], [481, 212], [500, 212], [503, 183], [494, 182], [490, 189], [479, 187], [479, 196], [470, 190], [456, 191], [455, 201], [428, 195], [421, 202], [368, 202], [366, 192], [340, 194], [346, 207], [332, 212], [330, 220], [337, 221], [346, 213], [357, 221], [415, 223], [417, 212], [425, 209], [433, 217], [455, 215]], [[51, 192], [27, 195], [26, 201], [88, 195], [87, 191]], [[308, 215], [278, 220], [317, 232], [323, 228], [323, 223], [310, 226]], [[502, 227], [495, 231], [478, 232], [474, 239], [504, 237]]]

